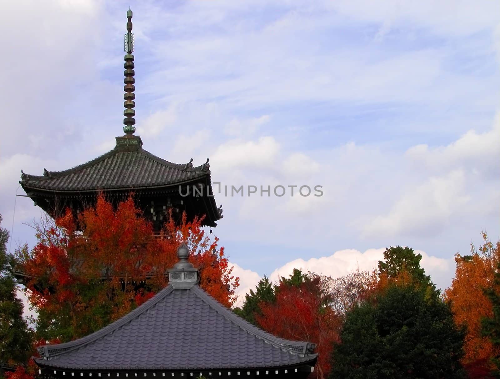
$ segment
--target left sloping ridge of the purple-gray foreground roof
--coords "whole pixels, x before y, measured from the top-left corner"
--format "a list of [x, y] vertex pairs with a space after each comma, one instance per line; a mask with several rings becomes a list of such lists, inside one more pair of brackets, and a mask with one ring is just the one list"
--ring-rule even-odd
[[[88, 336], [79, 338], [79, 339], [74, 340], [74, 341], [66, 342], [63, 344], [57, 344], [57, 345], [40, 346], [37, 349], [38, 353], [40, 354], [40, 356], [42, 358], [50, 358], [50, 357], [57, 356], [59, 354], [67, 353], [68, 351], [79, 349], [85, 345], [88, 345], [88, 344], [98, 340], [99, 338], [104, 337], [111, 332], [114, 332], [115, 330], [121, 328], [123, 325], [128, 324], [133, 319], [135, 319], [137, 316], [140, 316], [142, 313], [146, 312], [147, 310], [149, 310], [150, 308], [155, 306], [159, 301], [163, 300], [172, 291], [173, 291], [173, 287], [167, 286], [164, 289], [162, 289], [161, 291], [159, 291], [151, 299], [144, 302], [144, 304], [140, 305], [139, 307], [135, 308], [130, 313], [128, 313], [125, 316], [121, 317], [120, 319], [112, 322], [111, 324], [105, 326], [104, 328], [99, 329], [98, 331], [91, 333]], [[52, 349], [50, 349], [50, 348], [52, 348]], [[51, 354], [51, 352], [53, 352], [53, 354]]]

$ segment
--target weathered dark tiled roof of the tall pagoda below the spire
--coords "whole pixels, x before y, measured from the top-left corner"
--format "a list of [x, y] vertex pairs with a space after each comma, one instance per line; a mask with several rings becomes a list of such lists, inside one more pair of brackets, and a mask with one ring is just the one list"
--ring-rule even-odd
[[165, 187], [210, 177], [210, 171], [161, 159], [142, 148], [118, 147], [87, 163], [64, 171], [45, 171], [43, 176], [22, 175], [26, 188], [50, 191], [95, 191]]

